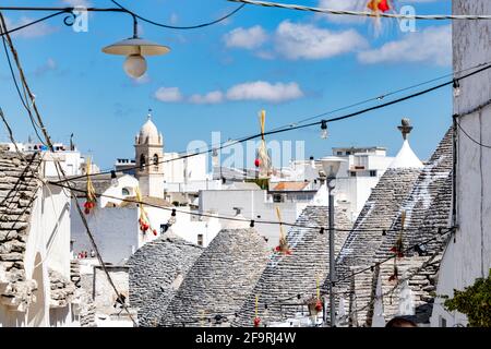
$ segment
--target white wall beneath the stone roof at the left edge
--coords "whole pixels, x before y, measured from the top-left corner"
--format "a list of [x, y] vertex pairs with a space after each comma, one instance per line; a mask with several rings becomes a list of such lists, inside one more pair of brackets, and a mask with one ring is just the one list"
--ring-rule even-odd
[[31, 213], [24, 252], [26, 279], [37, 284], [36, 301], [27, 309], [1, 302], [0, 327], [76, 325], [76, 312], [71, 303], [63, 308], [50, 306], [48, 268], [70, 279], [70, 197], [58, 186], [40, 188]]

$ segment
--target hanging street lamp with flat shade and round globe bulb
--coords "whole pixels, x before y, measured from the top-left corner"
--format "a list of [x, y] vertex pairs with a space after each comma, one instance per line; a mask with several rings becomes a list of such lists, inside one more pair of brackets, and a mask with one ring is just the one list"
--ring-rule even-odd
[[123, 64], [124, 72], [131, 77], [137, 79], [146, 72], [145, 56], [161, 56], [170, 51], [170, 48], [139, 37], [136, 17], [133, 15], [133, 37], [120, 40], [103, 48], [108, 55], [127, 56]]

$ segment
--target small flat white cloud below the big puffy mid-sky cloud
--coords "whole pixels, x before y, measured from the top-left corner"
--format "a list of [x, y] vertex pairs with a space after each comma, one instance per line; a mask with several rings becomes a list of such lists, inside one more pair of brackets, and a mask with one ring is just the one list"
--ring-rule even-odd
[[227, 91], [229, 100], [264, 100], [271, 103], [280, 103], [297, 99], [303, 96], [297, 83], [271, 84], [264, 81], [248, 82], [238, 84]]

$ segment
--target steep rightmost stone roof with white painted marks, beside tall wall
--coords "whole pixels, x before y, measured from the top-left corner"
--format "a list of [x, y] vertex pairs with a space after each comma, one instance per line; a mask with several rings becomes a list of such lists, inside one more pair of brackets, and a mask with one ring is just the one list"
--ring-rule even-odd
[[[400, 216], [405, 212], [406, 220], [405, 231], [403, 233], [405, 248], [434, 239], [426, 244], [427, 256], [421, 257], [417, 253], [408, 253], [404, 258], [397, 261], [400, 267], [407, 265], [407, 274], [412, 276], [408, 280], [408, 290], [411, 292], [411, 301], [418, 312], [418, 316], [415, 320], [421, 323], [429, 323], [431, 316], [433, 299], [431, 292], [436, 290], [440, 262], [450, 236], [443, 236], [443, 230], [439, 232], [439, 228], [446, 228], [451, 225], [452, 140], [451, 129], [446, 132], [430, 160], [424, 166], [411, 193], [403, 203], [391, 227], [391, 230], [402, 228]], [[399, 233], [396, 231], [388, 232], [379, 251], [376, 251], [374, 261], [381, 261], [390, 256], [390, 250], [398, 237]], [[386, 266], [382, 267], [381, 273], [386, 268]], [[404, 270], [399, 272], [404, 274]], [[383, 288], [390, 284], [388, 277], [382, 277], [381, 280]], [[392, 298], [399, 299], [404, 289], [402, 287], [396, 288], [392, 293]], [[390, 306], [390, 298], [384, 298], [384, 315], [386, 321], [398, 315], [399, 311], [398, 308]]]

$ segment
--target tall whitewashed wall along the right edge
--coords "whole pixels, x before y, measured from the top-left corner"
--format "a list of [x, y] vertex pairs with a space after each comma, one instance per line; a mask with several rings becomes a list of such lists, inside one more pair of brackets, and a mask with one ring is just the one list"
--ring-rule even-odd
[[[490, 14], [489, 0], [454, 0], [454, 14]], [[491, 57], [489, 21], [454, 21], [454, 71], [489, 61]], [[458, 75], [457, 75], [458, 76]], [[460, 94], [454, 98], [454, 112], [466, 113], [491, 99], [491, 71], [459, 81]], [[470, 136], [491, 144], [491, 107], [457, 120]], [[488, 277], [491, 267], [491, 153], [470, 141], [462, 130], [457, 135], [457, 217], [455, 242], [451, 239], [443, 256], [436, 294], [453, 297], [476, 278]], [[466, 316], [448, 313], [438, 299], [432, 326], [466, 325]]]

